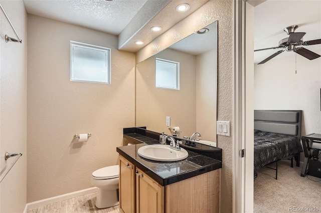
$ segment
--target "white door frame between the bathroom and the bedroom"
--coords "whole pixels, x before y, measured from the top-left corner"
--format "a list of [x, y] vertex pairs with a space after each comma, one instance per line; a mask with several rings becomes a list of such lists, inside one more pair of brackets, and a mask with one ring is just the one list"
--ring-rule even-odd
[[233, 4], [233, 212], [243, 213], [253, 212], [254, 7], [247, 0], [233, 0]]

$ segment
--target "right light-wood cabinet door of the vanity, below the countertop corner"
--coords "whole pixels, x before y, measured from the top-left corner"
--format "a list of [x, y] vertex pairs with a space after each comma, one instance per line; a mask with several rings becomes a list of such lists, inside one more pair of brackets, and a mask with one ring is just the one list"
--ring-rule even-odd
[[164, 186], [136, 168], [136, 212], [164, 213]]

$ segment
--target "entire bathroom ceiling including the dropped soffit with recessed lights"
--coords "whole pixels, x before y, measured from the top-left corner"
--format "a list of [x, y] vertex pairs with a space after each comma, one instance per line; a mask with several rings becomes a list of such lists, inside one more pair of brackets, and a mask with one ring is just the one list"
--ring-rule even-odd
[[[118, 49], [137, 52], [209, 0], [24, 0], [30, 14], [119, 35]], [[188, 3], [187, 12], [176, 11]], [[162, 31], [152, 32], [152, 26]], [[144, 41], [137, 45], [136, 40]]]

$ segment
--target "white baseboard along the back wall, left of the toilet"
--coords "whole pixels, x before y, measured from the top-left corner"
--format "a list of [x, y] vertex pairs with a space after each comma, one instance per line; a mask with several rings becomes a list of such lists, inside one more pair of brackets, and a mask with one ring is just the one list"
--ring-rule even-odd
[[54, 202], [59, 202], [62, 200], [66, 200], [66, 199], [70, 199], [76, 196], [81, 196], [81, 195], [85, 195], [85, 194], [90, 194], [90, 193], [94, 193], [97, 192], [97, 187], [91, 187], [91, 188], [85, 188], [79, 191], [74, 191], [74, 192], [70, 192], [70, 193], [66, 193], [66, 194], [61, 194], [58, 196], [53, 196], [53, 197], [49, 197], [46, 199], [41, 199], [41, 200], [37, 200], [34, 202], [28, 202], [26, 204], [26, 208], [24, 212], [27, 212], [27, 210], [29, 209], [33, 209], [33, 208], [38, 208], [44, 205], [48, 205], [50, 203], [54, 203]]

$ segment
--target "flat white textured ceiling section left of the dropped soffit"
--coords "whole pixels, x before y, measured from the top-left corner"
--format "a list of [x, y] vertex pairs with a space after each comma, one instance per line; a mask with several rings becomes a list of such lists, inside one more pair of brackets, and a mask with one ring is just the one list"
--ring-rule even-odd
[[147, 0], [24, 0], [26, 10], [118, 35]]

